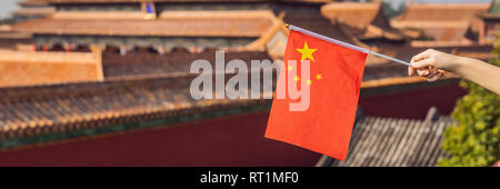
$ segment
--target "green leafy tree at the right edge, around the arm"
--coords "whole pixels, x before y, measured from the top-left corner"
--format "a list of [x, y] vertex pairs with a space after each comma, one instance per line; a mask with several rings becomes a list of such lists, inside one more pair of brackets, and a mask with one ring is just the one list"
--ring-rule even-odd
[[[500, 54], [499, 44], [492, 53]], [[489, 62], [500, 66], [499, 58]], [[500, 96], [467, 80], [460, 86], [469, 93], [453, 109], [451, 116], [458, 123], [444, 130], [441, 145], [450, 157], [440, 159], [438, 166], [491, 166], [500, 159]]]

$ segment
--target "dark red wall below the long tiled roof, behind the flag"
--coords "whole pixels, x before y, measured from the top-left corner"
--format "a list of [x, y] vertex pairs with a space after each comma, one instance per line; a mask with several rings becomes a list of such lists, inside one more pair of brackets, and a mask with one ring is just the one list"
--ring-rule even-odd
[[[423, 119], [430, 107], [449, 113], [466, 93], [458, 84], [367, 97], [363, 113]], [[176, 128], [0, 153], [0, 166], [313, 166], [320, 155], [263, 138], [268, 112]]]

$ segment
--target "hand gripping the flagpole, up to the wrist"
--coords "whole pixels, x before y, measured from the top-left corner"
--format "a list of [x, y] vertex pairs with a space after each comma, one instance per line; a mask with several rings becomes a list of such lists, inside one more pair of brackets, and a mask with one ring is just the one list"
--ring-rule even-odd
[[412, 76], [416, 71], [419, 76], [427, 78], [428, 81], [436, 81], [444, 78], [444, 71], [453, 71], [457, 67], [459, 57], [444, 53], [434, 49], [428, 49], [411, 58], [408, 74]]

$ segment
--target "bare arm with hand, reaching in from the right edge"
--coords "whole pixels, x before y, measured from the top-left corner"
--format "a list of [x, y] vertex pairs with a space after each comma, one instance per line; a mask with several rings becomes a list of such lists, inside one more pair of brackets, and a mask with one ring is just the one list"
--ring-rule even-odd
[[443, 77], [443, 72], [436, 68], [453, 72], [500, 94], [500, 68], [472, 58], [429, 49], [411, 59], [408, 73], [412, 76], [417, 71], [419, 76], [434, 81]]

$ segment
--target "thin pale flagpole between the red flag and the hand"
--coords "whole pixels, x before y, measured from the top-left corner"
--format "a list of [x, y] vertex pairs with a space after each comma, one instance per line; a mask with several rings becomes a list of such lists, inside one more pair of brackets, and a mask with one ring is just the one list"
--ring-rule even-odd
[[349, 48], [349, 49], [352, 49], [352, 50], [357, 50], [357, 51], [364, 52], [364, 53], [371, 53], [373, 56], [377, 56], [377, 57], [380, 57], [380, 58], [384, 58], [384, 59], [388, 59], [388, 60], [391, 60], [391, 61], [394, 61], [394, 62], [398, 62], [398, 63], [401, 63], [401, 64], [404, 64], [404, 66], [410, 66], [410, 63], [407, 62], [407, 61], [399, 60], [399, 59], [396, 59], [396, 58], [392, 58], [392, 57], [389, 57], [389, 56], [386, 56], [386, 54], [381, 54], [381, 53], [378, 53], [378, 52], [374, 52], [374, 51], [361, 48], [359, 46], [354, 46], [354, 44], [350, 44], [350, 43], [347, 43], [347, 42], [343, 42], [343, 41], [339, 41], [337, 39], [332, 39], [332, 38], [329, 38], [329, 37], [326, 37], [326, 36], [322, 36], [322, 34], [319, 34], [319, 33], [316, 33], [316, 32], [312, 32], [312, 31], [309, 31], [309, 30], [306, 30], [306, 29], [302, 29], [302, 28], [299, 28], [299, 27], [296, 27], [296, 26], [292, 26], [292, 24], [288, 24], [287, 23], [284, 26], [288, 29], [290, 29], [290, 30], [294, 30], [294, 31], [298, 31], [298, 32], [301, 32], [301, 33], [304, 33], [304, 34], [309, 34], [309, 36], [312, 36], [314, 38], [322, 39], [322, 40], [326, 40], [326, 41], [329, 41], [329, 42], [332, 42], [332, 43], [336, 43], [336, 44], [339, 44], [339, 46], [342, 46], [342, 47], [346, 47], [346, 48]]

